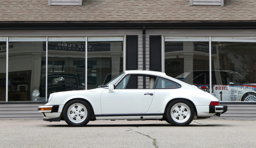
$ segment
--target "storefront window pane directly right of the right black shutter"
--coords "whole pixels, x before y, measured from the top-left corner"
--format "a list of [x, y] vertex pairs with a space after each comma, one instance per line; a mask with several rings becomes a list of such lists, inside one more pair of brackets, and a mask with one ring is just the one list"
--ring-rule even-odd
[[209, 41], [170, 40], [166, 39], [164, 43], [166, 75], [191, 84], [209, 85]]

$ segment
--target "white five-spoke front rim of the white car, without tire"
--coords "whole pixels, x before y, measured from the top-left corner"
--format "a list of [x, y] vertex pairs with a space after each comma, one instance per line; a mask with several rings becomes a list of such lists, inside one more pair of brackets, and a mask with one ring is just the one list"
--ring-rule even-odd
[[87, 117], [87, 109], [83, 104], [75, 103], [68, 107], [68, 119], [73, 123], [81, 123]]

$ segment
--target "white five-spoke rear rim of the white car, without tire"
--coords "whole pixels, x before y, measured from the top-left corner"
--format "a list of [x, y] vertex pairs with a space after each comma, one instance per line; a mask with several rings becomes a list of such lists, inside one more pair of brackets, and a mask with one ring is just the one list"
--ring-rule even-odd
[[171, 116], [175, 122], [184, 123], [188, 121], [191, 111], [184, 103], [177, 103], [172, 106]]

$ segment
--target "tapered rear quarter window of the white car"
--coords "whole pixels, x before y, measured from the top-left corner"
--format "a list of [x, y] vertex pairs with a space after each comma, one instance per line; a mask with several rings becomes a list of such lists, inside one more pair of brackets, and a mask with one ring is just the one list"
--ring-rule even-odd
[[156, 89], [173, 89], [180, 88], [181, 86], [175, 82], [170, 80], [159, 78], [156, 84]]

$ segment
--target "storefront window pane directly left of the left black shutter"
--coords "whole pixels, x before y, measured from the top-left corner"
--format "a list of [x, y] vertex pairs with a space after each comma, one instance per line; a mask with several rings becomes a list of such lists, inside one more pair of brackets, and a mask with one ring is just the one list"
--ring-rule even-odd
[[88, 39], [87, 89], [106, 84], [123, 71], [123, 38], [109, 40]]

